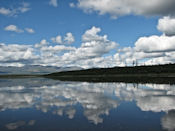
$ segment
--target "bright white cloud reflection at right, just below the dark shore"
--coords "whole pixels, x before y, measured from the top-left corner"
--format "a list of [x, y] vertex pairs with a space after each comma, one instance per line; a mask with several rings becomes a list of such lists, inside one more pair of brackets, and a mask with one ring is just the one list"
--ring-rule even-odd
[[175, 86], [171, 85], [139, 85], [133, 88], [132, 84], [118, 86], [115, 94], [122, 100], [135, 100], [142, 111], [169, 111], [175, 109]]

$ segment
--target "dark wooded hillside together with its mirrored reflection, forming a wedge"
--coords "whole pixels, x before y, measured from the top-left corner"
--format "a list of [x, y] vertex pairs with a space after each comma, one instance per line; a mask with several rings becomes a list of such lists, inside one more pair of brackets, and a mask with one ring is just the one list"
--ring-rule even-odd
[[175, 64], [96, 68], [57, 72], [44, 77], [62, 81], [175, 84]]

